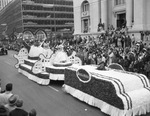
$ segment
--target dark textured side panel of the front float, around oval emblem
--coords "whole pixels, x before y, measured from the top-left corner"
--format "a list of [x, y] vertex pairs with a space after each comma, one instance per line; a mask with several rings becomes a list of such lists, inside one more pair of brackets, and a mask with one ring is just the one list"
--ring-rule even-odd
[[90, 82], [82, 83], [76, 77], [76, 71], [66, 69], [64, 83], [114, 107], [124, 109], [123, 101], [117, 96], [115, 87], [111, 82], [97, 79], [92, 76]]

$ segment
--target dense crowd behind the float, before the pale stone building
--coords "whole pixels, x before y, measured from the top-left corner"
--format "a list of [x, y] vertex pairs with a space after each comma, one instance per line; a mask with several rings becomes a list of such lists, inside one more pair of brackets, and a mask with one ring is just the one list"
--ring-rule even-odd
[[103, 62], [107, 67], [117, 63], [126, 71], [150, 77], [150, 47], [143, 41], [136, 41], [134, 34], [129, 36], [126, 27], [114, 29], [109, 26], [107, 31], [97, 36], [79, 35], [74, 39], [58, 41], [51, 45], [52, 49], [62, 43], [68, 55], [76, 51], [83, 65], [100, 65]]

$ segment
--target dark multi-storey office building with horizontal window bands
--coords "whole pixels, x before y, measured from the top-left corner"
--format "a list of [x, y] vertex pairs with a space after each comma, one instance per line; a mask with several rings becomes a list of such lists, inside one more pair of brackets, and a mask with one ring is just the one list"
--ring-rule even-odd
[[4, 23], [8, 36], [38, 29], [69, 33], [74, 23], [73, 0], [13, 0], [0, 11], [0, 24]]

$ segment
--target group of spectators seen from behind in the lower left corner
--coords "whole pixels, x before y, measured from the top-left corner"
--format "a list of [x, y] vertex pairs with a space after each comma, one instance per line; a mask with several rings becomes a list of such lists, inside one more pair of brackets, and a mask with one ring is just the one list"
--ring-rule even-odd
[[23, 100], [13, 94], [13, 84], [8, 83], [5, 90], [0, 93], [0, 116], [36, 116], [36, 110], [27, 112], [23, 108]]

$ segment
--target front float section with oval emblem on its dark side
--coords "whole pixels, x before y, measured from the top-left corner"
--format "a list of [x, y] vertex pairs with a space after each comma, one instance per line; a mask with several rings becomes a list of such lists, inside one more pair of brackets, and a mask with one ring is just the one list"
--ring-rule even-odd
[[75, 98], [111, 116], [150, 112], [150, 83], [143, 74], [73, 65], [65, 69], [63, 88]]

